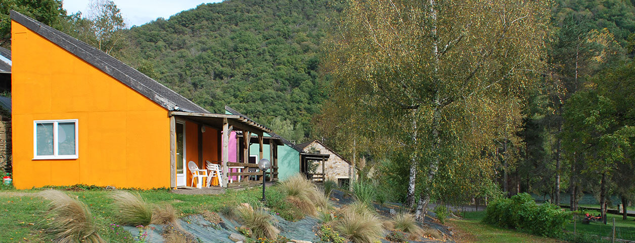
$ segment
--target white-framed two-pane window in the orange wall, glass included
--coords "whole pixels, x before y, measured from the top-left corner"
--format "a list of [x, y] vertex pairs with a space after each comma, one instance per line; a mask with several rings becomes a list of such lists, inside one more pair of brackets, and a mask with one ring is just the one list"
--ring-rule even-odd
[[77, 119], [33, 121], [33, 159], [76, 159]]

